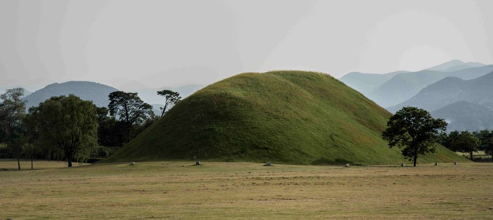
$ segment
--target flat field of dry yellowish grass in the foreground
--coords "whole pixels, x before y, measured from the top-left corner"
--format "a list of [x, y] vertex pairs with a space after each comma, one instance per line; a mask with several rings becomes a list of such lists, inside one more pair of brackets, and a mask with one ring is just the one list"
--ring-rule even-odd
[[0, 220], [493, 219], [493, 163], [192, 164], [0, 160]]

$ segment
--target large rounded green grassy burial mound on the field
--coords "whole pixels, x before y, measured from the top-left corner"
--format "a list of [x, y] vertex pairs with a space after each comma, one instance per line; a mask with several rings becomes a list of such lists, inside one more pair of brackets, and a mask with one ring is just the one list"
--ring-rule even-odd
[[[324, 73], [242, 73], [190, 95], [107, 161], [405, 162], [381, 139], [390, 115]], [[455, 160], [440, 146], [418, 161]]]

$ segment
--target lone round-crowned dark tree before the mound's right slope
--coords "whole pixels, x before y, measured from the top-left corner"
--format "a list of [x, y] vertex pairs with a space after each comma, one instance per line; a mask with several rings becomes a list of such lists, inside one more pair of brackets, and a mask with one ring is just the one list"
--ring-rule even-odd
[[446, 129], [447, 122], [433, 118], [428, 111], [404, 107], [390, 117], [382, 138], [389, 147], [404, 147], [402, 155], [416, 166], [419, 155], [436, 152], [434, 145]]

